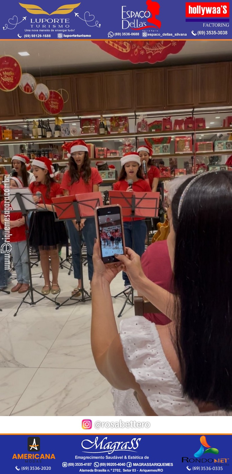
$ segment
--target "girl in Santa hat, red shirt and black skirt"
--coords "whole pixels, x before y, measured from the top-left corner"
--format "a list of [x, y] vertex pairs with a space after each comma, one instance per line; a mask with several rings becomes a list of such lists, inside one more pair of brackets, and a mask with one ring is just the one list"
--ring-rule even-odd
[[[44, 208], [47, 212], [34, 212], [30, 219], [29, 243], [31, 246], [38, 247], [40, 253], [40, 263], [44, 276], [44, 287], [42, 294], [56, 294], [60, 292], [58, 285], [59, 273], [59, 253], [58, 246], [63, 246], [67, 240], [64, 222], [55, 222], [52, 198], [62, 196], [59, 183], [54, 180], [54, 168], [52, 162], [45, 156], [41, 156], [32, 162], [35, 182], [29, 185], [29, 189], [34, 194], [34, 201], [39, 204], [39, 209]], [[38, 197], [40, 192], [43, 199]], [[45, 202], [45, 204], [43, 204]], [[52, 268], [52, 285], [50, 284], [50, 265]]]

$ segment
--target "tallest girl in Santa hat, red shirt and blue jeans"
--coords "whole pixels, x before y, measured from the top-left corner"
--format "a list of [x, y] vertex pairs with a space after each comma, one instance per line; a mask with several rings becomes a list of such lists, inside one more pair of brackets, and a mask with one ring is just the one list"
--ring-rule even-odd
[[[86, 192], [99, 191], [99, 184], [102, 178], [96, 168], [91, 168], [88, 154], [88, 147], [83, 140], [75, 140], [72, 143], [65, 143], [63, 148], [68, 151], [69, 168], [65, 171], [61, 182], [61, 189], [65, 196], [83, 194]], [[81, 295], [81, 268], [80, 268], [80, 244], [78, 236], [78, 224], [74, 220], [67, 220], [70, 243], [72, 247], [74, 278], [78, 279], [78, 285], [74, 288], [72, 296]], [[87, 250], [88, 275], [90, 286], [93, 277], [93, 245], [96, 237], [94, 218], [81, 219], [81, 229]]]

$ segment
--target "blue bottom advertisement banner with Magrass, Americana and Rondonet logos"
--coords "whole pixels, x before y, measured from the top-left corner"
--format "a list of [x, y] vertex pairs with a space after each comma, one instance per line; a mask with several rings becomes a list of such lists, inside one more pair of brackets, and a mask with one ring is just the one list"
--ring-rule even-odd
[[1, 473], [232, 472], [232, 435], [97, 436], [88, 434], [88, 424], [85, 426], [84, 435], [1, 435]]

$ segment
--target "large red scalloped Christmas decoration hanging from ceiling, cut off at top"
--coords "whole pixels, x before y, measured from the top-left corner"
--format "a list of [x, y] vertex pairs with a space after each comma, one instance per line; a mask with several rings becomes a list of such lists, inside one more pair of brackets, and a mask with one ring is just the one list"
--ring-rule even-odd
[[167, 55], [175, 55], [179, 53], [185, 46], [185, 41], [92, 41], [95, 45], [98, 45], [103, 51], [110, 55], [122, 59], [124, 61], [130, 61], [133, 64], [137, 63], [149, 63], [155, 64], [160, 61], [164, 61]]

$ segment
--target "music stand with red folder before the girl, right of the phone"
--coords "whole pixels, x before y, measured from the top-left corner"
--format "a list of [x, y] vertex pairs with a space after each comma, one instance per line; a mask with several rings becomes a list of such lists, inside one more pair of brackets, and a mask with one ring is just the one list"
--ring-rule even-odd
[[[134, 218], [135, 217], [158, 217], [159, 192], [134, 192], [131, 191], [109, 191], [111, 205], [120, 204], [123, 217], [130, 217], [132, 220], [132, 250], [134, 250]], [[145, 247], [145, 243], [144, 243]], [[134, 289], [130, 285], [128, 290], [123, 290], [114, 296], [118, 298], [125, 296], [126, 300], [121, 308], [118, 318], [121, 317], [126, 304], [134, 306]]]

